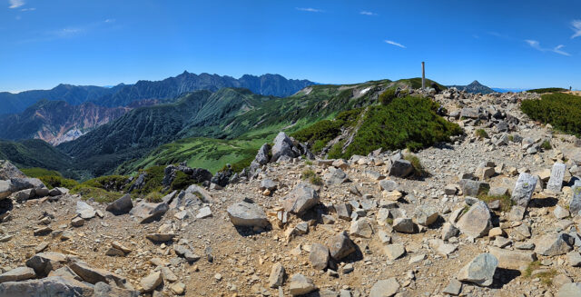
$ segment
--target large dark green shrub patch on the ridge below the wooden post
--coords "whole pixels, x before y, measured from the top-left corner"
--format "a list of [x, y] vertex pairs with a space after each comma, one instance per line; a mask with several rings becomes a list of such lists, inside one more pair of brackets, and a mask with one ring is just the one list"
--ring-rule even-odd
[[408, 95], [389, 104], [341, 113], [333, 121], [320, 121], [292, 135], [311, 144], [313, 151], [320, 151], [343, 131], [351, 130], [351, 141], [348, 143], [344, 137], [333, 144], [328, 153], [330, 158], [366, 155], [379, 148], [416, 151], [462, 133], [458, 124], [436, 114], [437, 109], [438, 104], [428, 98]]

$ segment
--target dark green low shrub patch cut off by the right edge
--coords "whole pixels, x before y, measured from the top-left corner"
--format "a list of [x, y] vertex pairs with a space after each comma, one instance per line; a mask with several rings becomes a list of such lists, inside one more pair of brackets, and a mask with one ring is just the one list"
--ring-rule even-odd
[[581, 136], [581, 96], [543, 94], [540, 100], [525, 100], [520, 106], [531, 119], [551, 124], [567, 134]]

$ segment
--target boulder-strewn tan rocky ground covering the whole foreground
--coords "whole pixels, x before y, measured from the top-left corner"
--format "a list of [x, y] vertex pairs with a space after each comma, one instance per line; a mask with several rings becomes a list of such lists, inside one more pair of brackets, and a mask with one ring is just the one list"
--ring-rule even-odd
[[578, 139], [520, 112], [537, 94], [431, 97], [464, 134], [326, 160], [281, 133], [227, 185], [154, 200], [3, 163], [0, 295], [580, 296]]

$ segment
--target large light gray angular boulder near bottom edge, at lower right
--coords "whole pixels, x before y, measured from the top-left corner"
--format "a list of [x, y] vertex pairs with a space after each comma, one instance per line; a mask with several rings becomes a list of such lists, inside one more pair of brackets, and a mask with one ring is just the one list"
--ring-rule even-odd
[[497, 271], [497, 266], [497, 257], [490, 253], [481, 253], [460, 269], [458, 281], [472, 282], [487, 287], [494, 281], [493, 277]]

